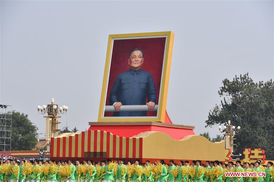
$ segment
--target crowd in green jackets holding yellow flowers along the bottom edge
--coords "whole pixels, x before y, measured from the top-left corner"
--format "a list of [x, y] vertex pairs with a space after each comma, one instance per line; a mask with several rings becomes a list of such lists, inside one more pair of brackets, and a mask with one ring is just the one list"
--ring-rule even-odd
[[[265, 177], [226, 177], [225, 172], [265, 172]], [[0, 162], [0, 182], [273, 182], [274, 167], [272, 162], [261, 165], [258, 160], [255, 163], [236, 164], [229, 162], [223, 164], [218, 160], [206, 161], [202, 164], [200, 160], [179, 161], [175, 164], [173, 160], [166, 164], [164, 160], [144, 165], [139, 160], [128, 161], [124, 159], [119, 162], [102, 160], [93, 163], [93, 160], [79, 160], [73, 162], [54, 160], [25, 161], [7, 159]]]

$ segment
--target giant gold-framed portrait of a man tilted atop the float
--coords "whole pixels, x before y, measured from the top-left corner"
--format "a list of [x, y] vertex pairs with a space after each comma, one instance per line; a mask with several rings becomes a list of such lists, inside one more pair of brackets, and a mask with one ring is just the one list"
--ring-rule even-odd
[[164, 122], [173, 38], [109, 35], [98, 122]]

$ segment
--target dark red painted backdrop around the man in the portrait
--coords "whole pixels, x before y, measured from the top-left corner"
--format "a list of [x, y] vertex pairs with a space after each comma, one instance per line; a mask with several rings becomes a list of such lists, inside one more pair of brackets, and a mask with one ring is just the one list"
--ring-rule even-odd
[[[156, 104], [158, 104], [162, 66], [165, 52], [165, 37], [148, 39], [125, 39], [113, 41], [109, 82], [105, 105], [109, 105], [109, 94], [117, 75], [130, 68], [128, 64], [129, 53], [136, 48], [144, 51], [144, 63], [142, 64], [141, 69], [148, 71], [152, 74], [156, 87]], [[113, 112], [104, 113], [105, 117], [109, 117], [112, 115]], [[147, 115], [157, 116], [157, 112], [150, 111], [147, 112]]]

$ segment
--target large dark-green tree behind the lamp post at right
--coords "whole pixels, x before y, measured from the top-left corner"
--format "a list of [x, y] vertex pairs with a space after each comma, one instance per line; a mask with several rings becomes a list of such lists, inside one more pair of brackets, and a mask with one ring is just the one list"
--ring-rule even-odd
[[231, 120], [231, 124], [241, 126], [234, 140], [234, 153], [242, 153], [244, 148], [265, 150], [266, 159], [274, 160], [274, 82], [254, 83], [244, 74], [224, 79], [218, 91], [223, 97], [220, 105], [208, 113], [205, 127], [221, 125]]

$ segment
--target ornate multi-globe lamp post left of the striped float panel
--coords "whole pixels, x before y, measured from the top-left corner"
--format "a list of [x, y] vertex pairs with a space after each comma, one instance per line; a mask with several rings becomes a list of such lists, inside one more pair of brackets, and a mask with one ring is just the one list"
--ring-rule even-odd
[[[59, 118], [61, 118], [61, 116], [59, 116], [59, 114], [66, 114], [68, 110], [68, 106], [63, 105], [62, 107], [58, 107], [57, 104], [54, 104], [54, 98], [52, 98], [51, 101], [52, 103], [47, 106], [37, 106], [39, 114], [48, 114], [44, 116], [44, 118], [46, 118], [46, 140], [48, 141], [48, 144], [50, 143], [51, 137], [58, 136], [58, 132], [60, 131]], [[47, 150], [49, 151], [49, 145]]]

